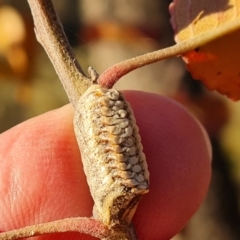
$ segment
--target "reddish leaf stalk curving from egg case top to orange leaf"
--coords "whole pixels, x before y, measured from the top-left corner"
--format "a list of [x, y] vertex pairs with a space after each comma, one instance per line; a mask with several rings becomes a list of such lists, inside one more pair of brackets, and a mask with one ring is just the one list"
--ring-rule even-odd
[[160, 60], [163, 60], [169, 57], [182, 55], [198, 47], [201, 47], [207, 44], [208, 42], [211, 42], [217, 38], [220, 38], [226, 34], [229, 34], [239, 28], [240, 28], [240, 21], [237, 19], [235, 21], [226, 23], [223, 26], [219, 26], [218, 28], [215, 28], [210, 32], [207, 32], [200, 36], [196, 36], [184, 42], [180, 42], [174, 46], [160, 49], [158, 51], [143, 54], [141, 56], [122, 61], [105, 70], [99, 76], [97, 82], [99, 85], [103, 87], [112, 88], [113, 85], [121, 77], [123, 77], [127, 73], [137, 68], [146, 66], [154, 62], [158, 62]]

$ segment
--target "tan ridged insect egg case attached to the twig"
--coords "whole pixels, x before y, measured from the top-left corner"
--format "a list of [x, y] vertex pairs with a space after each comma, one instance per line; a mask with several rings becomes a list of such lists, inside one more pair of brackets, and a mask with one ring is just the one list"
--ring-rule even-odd
[[104, 224], [128, 224], [149, 172], [133, 111], [121, 92], [91, 86], [81, 97], [74, 128], [94, 200], [94, 217]]

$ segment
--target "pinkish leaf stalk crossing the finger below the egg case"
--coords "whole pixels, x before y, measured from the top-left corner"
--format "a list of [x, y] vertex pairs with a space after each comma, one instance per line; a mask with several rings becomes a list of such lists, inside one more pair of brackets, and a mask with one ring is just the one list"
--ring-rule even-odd
[[108, 229], [102, 223], [92, 218], [66, 218], [0, 233], [0, 240], [14, 240], [64, 232], [79, 232], [97, 238], [104, 238], [108, 234]]

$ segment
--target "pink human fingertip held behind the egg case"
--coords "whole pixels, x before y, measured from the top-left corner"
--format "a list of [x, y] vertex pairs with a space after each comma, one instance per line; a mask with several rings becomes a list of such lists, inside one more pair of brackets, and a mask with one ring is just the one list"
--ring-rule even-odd
[[[203, 201], [211, 175], [209, 140], [176, 102], [127, 91], [150, 170], [150, 192], [133, 222], [139, 239], [169, 240]], [[0, 231], [92, 215], [70, 105], [0, 135]], [[34, 239], [95, 239], [79, 233]]]

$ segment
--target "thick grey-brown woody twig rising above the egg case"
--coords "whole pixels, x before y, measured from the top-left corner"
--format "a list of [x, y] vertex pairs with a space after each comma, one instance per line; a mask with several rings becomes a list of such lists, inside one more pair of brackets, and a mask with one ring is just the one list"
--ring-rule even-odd
[[75, 106], [92, 81], [84, 75], [51, 0], [28, 0], [28, 3], [37, 39], [47, 52], [69, 100]]

